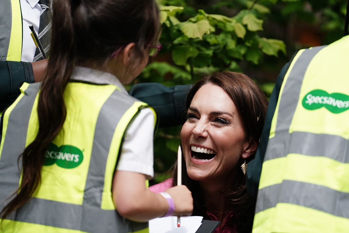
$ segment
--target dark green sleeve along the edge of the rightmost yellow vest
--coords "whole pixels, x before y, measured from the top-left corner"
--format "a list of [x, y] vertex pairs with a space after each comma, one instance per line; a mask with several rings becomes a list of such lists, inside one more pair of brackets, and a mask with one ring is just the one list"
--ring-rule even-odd
[[291, 64], [291, 61], [289, 61], [288, 63], [286, 63], [286, 65], [284, 65], [284, 67], [282, 67], [279, 73], [279, 76], [277, 77], [275, 87], [273, 89], [272, 95], [270, 96], [266, 120], [264, 123], [262, 135], [260, 138], [260, 142], [259, 142], [259, 146], [255, 155], [255, 158], [251, 160], [247, 166], [247, 170], [246, 170], [247, 191], [255, 198], [257, 198], [257, 194], [258, 194], [259, 179], [262, 172], [262, 163], [264, 160], [265, 152], [267, 150], [270, 127], [272, 125], [272, 119], [276, 109], [277, 100], [279, 99], [280, 88], [281, 88], [283, 79], [285, 77], [285, 74]]

